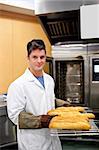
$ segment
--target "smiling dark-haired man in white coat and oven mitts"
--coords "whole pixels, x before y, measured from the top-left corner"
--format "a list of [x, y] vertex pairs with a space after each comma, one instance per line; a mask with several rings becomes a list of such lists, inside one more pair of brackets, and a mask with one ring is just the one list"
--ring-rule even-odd
[[54, 80], [46, 74], [46, 48], [42, 40], [27, 44], [29, 67], [8, 89], [7, 110], [17, 125], [19, 150], [61, 150], [59, 138], [50, 135], [51, 116], [55, 108]]

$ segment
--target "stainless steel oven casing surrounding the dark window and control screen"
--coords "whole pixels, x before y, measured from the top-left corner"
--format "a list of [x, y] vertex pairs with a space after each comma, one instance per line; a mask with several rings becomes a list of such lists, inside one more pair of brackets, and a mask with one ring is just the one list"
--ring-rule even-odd
[[[55, 61], [72, 61], [77, 56], [84, 59], [84, 104], [99, 113], [99, 81], [93, 81], [92, 60], [99, 59], [99, 43], [67, 44], [52, 46], [54, 57], [54, 77], [56, 78]], [[65, 82], [65, 81], [64, 81]]]

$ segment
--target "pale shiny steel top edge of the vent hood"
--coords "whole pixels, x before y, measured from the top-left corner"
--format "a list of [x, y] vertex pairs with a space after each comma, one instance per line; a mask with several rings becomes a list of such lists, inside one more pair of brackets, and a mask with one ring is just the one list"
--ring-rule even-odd
[[81, 5], [98, 3], [98, 0], [35, 0], [35, 14], [77, 10]]

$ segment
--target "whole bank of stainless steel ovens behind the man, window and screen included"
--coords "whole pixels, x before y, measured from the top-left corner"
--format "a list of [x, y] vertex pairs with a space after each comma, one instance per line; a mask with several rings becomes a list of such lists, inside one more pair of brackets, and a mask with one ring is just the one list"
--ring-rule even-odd
[[52, 55], [56, 96], [98, 114], [99, 43], [53, 46]]

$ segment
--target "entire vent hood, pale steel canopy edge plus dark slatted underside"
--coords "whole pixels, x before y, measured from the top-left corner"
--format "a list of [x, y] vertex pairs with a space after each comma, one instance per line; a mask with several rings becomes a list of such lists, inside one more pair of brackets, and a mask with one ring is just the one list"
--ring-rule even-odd
[[81, 41], [80, 6], [99, 3], [99, 0], [39, 0], [35, 15], [52, 45]]

